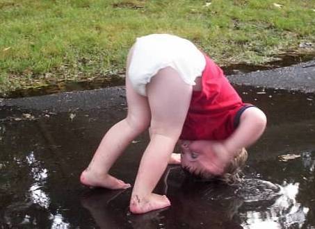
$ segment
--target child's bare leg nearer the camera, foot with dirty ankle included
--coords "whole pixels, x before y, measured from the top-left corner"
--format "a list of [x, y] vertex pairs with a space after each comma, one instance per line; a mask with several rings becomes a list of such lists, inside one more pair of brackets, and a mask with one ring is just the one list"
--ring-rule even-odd
[[192, 86], [184, 83], [177, 71], [161, 69], [147, 85], [152, 114], [151, 139], [147, 146], [131, 194], [130, 210], [144, 213], [170, 205], [166, 196], [152, 194], [168, 164], [184, 124]]

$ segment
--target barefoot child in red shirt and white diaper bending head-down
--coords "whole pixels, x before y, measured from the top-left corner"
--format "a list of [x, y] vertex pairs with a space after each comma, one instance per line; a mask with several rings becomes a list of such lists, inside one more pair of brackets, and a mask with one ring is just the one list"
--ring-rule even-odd
[[[127, 145], [150, 126], [131, 194], [130, 211], [140, 214], [168, 207], [152, 193], [168, 162], [206, 178], [224, 175], [243, 147], [263, 133], [266, 116], [244, 104], [223, 71], [183, 38], [152, 34], [137, 39], [127, 58], [128, 114], [99, 144], [81, 183], [125, 189], [131, 185], [108, 174]], [[181, 158], [172, 155], [177, 140]]]

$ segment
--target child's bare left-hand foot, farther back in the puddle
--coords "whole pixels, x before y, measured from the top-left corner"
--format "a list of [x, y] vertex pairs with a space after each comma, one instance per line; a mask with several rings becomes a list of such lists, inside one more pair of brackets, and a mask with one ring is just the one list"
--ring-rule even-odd
[[109, 174], [96, 175], [88, 169], [81, 173], [80, 181], [83, 185], [89, 187], [105, 187], [107, 189], [127, 189], [130, 184], [124, 183]]

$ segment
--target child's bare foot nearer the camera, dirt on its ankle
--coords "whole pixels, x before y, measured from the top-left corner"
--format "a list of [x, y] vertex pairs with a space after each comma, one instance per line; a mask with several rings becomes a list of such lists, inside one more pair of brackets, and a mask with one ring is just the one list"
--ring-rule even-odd
[[150, 194], [148, 198], [140, 199], [137, 195], [131, 197], [130, 212], [134, 214], [143, 214], [153, 210], [158, 210], [170, 206], [170, 201], [163, 195]]

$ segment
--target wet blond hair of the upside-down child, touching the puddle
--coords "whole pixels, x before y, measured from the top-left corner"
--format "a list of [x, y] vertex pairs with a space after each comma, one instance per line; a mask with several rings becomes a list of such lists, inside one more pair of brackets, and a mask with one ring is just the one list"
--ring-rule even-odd
[[248, 153], [245, 148], [242, 148], [236, 153], [235, 158], [225, 167], [223, 174], [219, 176], [214, 176], [212, 173], [209, 173], [207, 170], [200, 171], [191, 171], [188, 167], [183, 167], [184, 172], [188, 177], [192, 178], [195, 181], [201, 182], [213, 182], [220, 181], [227, 185], [236, 185], [241, 181], [241, 172], [245, 166], [245, 162], [248, 158]]

